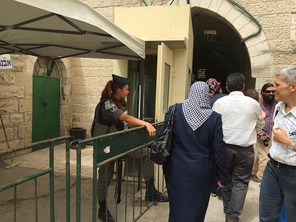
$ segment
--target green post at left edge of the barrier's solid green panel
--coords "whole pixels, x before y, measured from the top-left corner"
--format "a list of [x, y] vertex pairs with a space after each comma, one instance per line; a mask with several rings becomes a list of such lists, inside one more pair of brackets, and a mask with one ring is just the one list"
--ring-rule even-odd
[[93, 222], [97, 221], [97, 157], [98, 157], [98, 141], [93, 144]]

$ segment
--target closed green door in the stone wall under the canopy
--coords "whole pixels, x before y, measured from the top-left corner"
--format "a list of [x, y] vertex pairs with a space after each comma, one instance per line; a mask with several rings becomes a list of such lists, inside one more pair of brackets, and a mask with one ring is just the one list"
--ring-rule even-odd
[[60, 136], [60, 78], [33, 75], [32, 143]]

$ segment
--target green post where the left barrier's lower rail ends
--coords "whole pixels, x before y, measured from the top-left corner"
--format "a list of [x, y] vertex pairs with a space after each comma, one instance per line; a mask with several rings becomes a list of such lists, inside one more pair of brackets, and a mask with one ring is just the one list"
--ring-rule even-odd
[[54, 142], [49, 146], [49, 168], [52, 170], [49, 172], [49, 205], [50, 205], [50, 222], [54, 222], [54, 168], [53, 168], [53, 152]]

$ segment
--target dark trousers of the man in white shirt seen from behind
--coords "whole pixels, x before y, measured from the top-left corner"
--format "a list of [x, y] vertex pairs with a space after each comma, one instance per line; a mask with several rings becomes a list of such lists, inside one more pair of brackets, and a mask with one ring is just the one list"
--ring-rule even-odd
[[255, 155], [254, 146], [226, 144], [228, 184], [222, 188], [225, 218], [239, 222], [242, 214]]

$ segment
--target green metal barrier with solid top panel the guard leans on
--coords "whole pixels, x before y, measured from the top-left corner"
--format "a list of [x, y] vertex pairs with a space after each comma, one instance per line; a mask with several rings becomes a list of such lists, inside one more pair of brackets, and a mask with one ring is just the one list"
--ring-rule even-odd
[[[163, 122], [154, 123], [152, 124], [157, 132], [160, 130]], [[155, 138], [149, 138], [148, 132], [146, 127], [136, 127], [133, 129], [128, 129], [124, 131], [119, 131], [103, 136], [94, 137], [91, 139], [80, 140], [76, 143], [76, 222], [80, 222], [80, 195], [81, 195], [81, 146], [87, 143], [93, 142], [93, 210], [92, 210], [92, 219], [93, 222], [97, 221], [97, 168], [108, 164], [114, 160], [116, 160], [116, 165], [118, 163], [118, 158], [122, 156], [127, 156], [130, 153], [134, 153], [136, 150], [148, 148], [148, 145], [152, 143]], [[106, 151], [107, 149], [108, 151]], [[104, 151], [105, 150], [105, 151]], [[126, 162], [127, 163], [127, 162]], [[153, 162], [151, 161], [151, 164]], [[127, 165], [127, 164], [126, 164]], [[141, 158], [141, 170], [140, 175], [142, 181], [142, 158]], [[128, 185], [128, 178], [127, 178], [127, 166], [126, 168], [126, 192], [125, 192], [125, 221], [126, 221], [126, 210], [127, 210], [127, 185]], [[159, 169], [159, 168], [158, 168]], [[107, 178], [107, 171], [106, 171], [106, 178]], [[158, 173], [159, 178], [159, 173]], [[116, 173], [116, 184], [118, 180], [118, 175]], [[159, 180], [158, 180], [159, 181]], [[163, 175], [162, 175], [162, 181]], [[164, 187], [164, 182], [162, 182]], [[140, 183], [140, 189], [142, 190], [142, 183]], [[158, 182], [158, 189], [159, 189], [159, 182]], [[134, 158], [134, 175], [133, 175], [133, 196], [135, 196], [135, 158]], [[106, 197], [107, 197], [107, 182], [106, 182]], [[163, 191], [163, 190], [162, 190]], [[117, 203], [117, 189], [115, 192], [115, 201]], [[115, 204], [116, 204], [115, 203]], [[135, 198], [133, 198], [133, 219], [132, 221], [137, 221], [153, 204], [154, 201], [146, 205], [145, 209], [142, 209], [142, 192], [141, 192], [141, 205], [140, 205], [140, 214], [135, 217]], [[108, 205], [108, 204], [107, 204]], [[115, 206], [116, 215], [115, 221], [117, 221], [117, 204]], [[107, 208], [106, 208], [107, 212]]]

